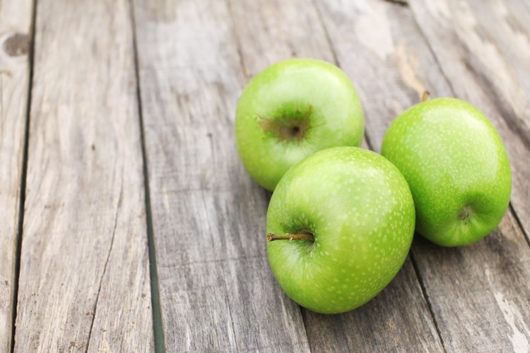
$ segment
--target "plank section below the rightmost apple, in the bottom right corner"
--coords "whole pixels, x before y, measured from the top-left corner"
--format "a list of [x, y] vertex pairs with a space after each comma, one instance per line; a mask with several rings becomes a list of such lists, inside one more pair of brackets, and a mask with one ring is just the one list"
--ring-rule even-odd
[[529, 352], [529, 252], [512, 213], [471, 246], [416, 241], [413, 253], [448, 351]]

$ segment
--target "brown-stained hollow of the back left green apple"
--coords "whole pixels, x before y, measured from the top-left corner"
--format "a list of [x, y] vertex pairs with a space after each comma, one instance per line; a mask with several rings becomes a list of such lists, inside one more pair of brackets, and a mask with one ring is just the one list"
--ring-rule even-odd
[[310, 128], [310, 116], [313, 106], [307, 107], [306, 112], [296, 109], [293, 114], [281, 114], [273, 118], [259, 117], [259, 125], [266, 133], [271, 133], [278, 140], [289, 142], [300, 141]]

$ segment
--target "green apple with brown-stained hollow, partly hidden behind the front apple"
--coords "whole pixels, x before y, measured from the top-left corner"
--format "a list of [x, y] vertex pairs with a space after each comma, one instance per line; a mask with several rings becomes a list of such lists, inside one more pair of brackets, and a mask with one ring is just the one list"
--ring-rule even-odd
[[273, 190], [317, 150], [359, 146], [364, 119], [346, 73], [315, 59], [290, 59], [254, 76], [237, 104], [237, 150], [252, 179]]

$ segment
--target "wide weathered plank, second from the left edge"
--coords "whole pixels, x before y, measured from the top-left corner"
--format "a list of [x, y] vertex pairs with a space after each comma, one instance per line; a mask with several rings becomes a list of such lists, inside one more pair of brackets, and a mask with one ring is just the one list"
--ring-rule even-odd
[[37, 4], [16, 352], [153, 349], [127, 1]]

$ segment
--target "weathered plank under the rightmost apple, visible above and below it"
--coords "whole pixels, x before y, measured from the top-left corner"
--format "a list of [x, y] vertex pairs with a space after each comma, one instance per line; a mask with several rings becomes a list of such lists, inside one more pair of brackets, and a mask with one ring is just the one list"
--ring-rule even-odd
[[[435, 97], [454, 95], [454, 82], [440, 71], [440, 56], [435, 59], [430, 52], [410, 8], [388, 1], [358, 1], [350, 9], [338, 1], [320, 4], [338, 61], [363, 97], [367, 133], [376, 150], [391, 120], [416, 104], [425, 88]], [[445, 46], [447, 51], [452, 44]], [[376, 78], [367, 74], [372, 72]], [[514, 328], [522, 345], [520, 337], [526, 337], [530, 317], [524, 306], [529, 298], [530, 252], [511, 213], [496, 232], [469, 248], [441, 249], [416, 239], [412, 253], [446, 349], [510, 350], [514, 347], [507, 333]], [[455, 253], [465, 254], [464, 266]], [[494, 275], [485, 279], [485, 269]]]

